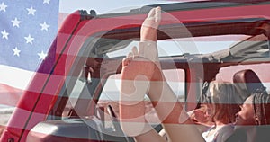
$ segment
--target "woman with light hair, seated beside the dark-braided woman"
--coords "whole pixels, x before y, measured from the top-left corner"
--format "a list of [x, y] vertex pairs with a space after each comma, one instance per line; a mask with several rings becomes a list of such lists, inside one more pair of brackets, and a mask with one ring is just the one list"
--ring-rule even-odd
[[223, 142], [233, 133], [235, 114], [240, 110], [234, 84], [211, 82], [206, 93], [206, 115], [214, 125], [202, 133], [208, 142]]

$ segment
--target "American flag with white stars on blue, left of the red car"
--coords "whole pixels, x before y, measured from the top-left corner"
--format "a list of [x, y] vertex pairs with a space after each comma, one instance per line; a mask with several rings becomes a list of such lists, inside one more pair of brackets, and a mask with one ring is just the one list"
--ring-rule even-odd
[[0, 107], [14, 106], [58, 31], [58, 0], [0, 0]]

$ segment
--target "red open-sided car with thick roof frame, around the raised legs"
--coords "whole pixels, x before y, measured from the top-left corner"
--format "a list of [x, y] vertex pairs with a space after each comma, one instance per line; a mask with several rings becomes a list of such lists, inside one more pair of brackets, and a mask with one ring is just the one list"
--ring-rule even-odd
[[[141, 23], [156, 6], [163, 11], [157, 31], [162, 69], [187, 111], [198, 106], [203, 83], [233, 82], [240, 70], [253, 70], [269, 86], [269, 1], [158, 4], [101, 15], [76, 11], [63, 22], [1, 141], [134, 141], [118, 121], [121, 60], [138, 45]], [[148, 119], [160, 131], [145, 100]]]

